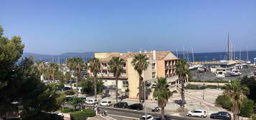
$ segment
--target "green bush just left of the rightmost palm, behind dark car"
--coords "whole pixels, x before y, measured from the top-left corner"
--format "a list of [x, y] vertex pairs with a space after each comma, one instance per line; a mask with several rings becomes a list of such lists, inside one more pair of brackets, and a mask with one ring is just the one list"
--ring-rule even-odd
[[224, 95], [218, 96], [215, 103], [219, 106], [222, 106], [223, 109], [230, 110], [231, 103], [227, 96], [224, 96]]

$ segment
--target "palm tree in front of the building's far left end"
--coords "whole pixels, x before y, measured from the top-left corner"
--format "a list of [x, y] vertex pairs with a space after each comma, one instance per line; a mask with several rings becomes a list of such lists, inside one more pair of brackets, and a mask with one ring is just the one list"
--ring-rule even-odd
[[90, 69], [90, 72], [93, 73], [94, 94], [95, 94], [95, 99], [97, 99], [97, 74], [100, 71], [100, 60], [98, 58], [90, 59], [88, 68]]

